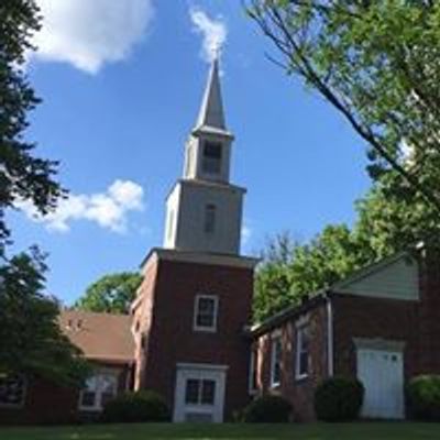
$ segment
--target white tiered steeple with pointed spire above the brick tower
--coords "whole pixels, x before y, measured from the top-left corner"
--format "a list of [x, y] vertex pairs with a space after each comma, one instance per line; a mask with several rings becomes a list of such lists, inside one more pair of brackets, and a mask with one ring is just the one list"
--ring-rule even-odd
[[200, 112], [185, 148], [184, 178], [167, 198], [164, 246], [240, 253], [244, 188], [229, 182], [233, 135], [224, 121], [219, 62], [212, 62]]

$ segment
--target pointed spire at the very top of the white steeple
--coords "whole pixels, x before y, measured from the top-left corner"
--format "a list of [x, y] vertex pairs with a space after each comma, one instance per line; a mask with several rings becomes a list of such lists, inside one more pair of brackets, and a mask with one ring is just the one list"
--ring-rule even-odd
[[202, 131], [227, 131], [223, 112], [223, 101], [221, 98], [219, 59], [212, 61], [211, 70], [208, 77], [208, 84], [205, 90], [204, 100], [199, 117], [197, 119], [196, 130]]

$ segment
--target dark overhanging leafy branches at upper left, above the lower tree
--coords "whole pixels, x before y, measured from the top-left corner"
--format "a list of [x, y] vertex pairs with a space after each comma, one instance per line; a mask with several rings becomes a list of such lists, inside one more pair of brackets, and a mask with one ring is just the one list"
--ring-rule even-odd
[[34, 0], [0, 3], [0, 257], [4, 256], [10, 230], [6, 209], [31, 200], [41, 213], [55, 207], [63, 194], [54, 180], [57, 163], [32, 155], [35, 143], [24, 139], [28, 113], [40, 102], [23, 69], [33, 50], [32, 34], [41, 18]]

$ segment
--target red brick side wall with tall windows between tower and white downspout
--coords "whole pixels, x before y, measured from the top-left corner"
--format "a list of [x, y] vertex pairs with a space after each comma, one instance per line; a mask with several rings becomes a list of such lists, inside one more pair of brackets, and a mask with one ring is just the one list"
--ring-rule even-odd
[[[308, 317], [310, 326], [310, 373], [307, 378], [296, 380], [296, 323]], [[271, 344], [274, 332], [282, 334], [282, 380], [277, 388], [271, 388]], [[287, 398], [293, 407], [293, 417], [299, 421], [315, 419], [314, 392], [316, 385], [328, 376], [327, 362], [327, 310], [320, 304], [308, 312], [285, 321], [274, 331], [263, 334], [255, 342], [258, 348], [258, 382], [264, 394], [279, 394]]]

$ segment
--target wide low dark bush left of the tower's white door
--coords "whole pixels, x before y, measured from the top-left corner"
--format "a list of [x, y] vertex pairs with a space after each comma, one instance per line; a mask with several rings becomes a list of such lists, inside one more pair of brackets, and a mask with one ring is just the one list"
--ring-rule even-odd
[[154, 392], [125, 393], [108, 402], [102, 420], [108, 422], [168, 421], [170, 414], [165, 400]]

